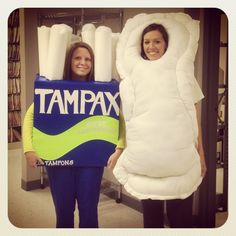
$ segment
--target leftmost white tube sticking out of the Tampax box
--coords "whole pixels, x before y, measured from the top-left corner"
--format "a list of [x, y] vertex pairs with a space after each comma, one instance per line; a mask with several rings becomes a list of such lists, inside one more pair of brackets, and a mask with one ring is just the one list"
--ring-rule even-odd
[[41, 76], [46, 76], [49, 37], [49, 27], [38, 27], [39, 74]]

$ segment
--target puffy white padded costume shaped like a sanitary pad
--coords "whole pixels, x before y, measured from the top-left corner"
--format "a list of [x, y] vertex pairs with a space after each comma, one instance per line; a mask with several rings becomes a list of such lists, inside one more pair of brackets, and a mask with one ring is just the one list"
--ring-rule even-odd
[[[162, 24], [169, 35], [166, 53], [155, 61], [140, 56], [142, 31], [151, 23]], [[199, 22], [184, 13], [139, 14], [120, 35], [127, 147], [113, 173], [139, 199], [183, 199], [202, 181], [194, 106], [203, 97], [194, 77], [198, 38]]]

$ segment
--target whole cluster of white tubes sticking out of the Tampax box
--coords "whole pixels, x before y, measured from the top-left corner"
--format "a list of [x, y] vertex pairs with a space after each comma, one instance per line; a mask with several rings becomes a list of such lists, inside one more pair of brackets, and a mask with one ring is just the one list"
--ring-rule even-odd
[[115, 66], [119, 33], [112, 33], [106, 26], [96, 28], [93, 24], [85, 24], [81, 37], [72, 34], [72, 28], [65, 24], [38, 27], [40, 76], [49, 80], [61, 80], [70, 45], [76, 41], [83, 41], [94, 51], [95, 81], [109, 82], [112, 78], [119, 80]]

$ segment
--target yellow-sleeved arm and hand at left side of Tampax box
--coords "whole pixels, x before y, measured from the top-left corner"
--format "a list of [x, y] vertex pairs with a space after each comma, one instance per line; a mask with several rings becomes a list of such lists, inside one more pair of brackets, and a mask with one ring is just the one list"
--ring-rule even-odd
[[27, 110], [23, 122], [23, 151], [30, 167], [37, 167], [37, 164], [43, 164], [43, 161], [37, 156], [33, 148], [33, 119], [34, 119], [34, 104], [31, 104]]

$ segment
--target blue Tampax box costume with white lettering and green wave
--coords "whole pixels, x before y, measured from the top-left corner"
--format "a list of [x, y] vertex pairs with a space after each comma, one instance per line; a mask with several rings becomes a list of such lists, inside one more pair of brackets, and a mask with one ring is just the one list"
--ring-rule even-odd
[[46, 166], [106, 166], [119, 133], [119, 83], [37, 76], [33, 146]]

